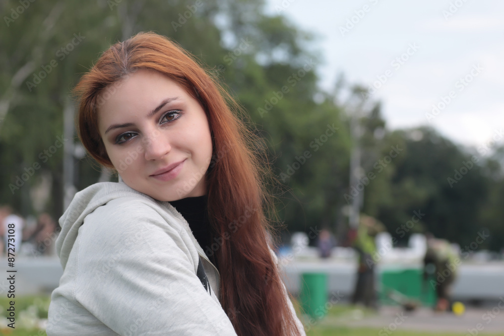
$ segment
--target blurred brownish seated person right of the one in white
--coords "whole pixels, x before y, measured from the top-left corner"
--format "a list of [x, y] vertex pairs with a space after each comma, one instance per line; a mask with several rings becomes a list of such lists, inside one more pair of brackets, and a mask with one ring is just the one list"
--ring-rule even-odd
[[33, 254], [53, 255], [56, 240], [56, 222], [47, 213], [42, 213], [37, 218], [33, 228], [25, 231], [25, 241], [33, 244]]

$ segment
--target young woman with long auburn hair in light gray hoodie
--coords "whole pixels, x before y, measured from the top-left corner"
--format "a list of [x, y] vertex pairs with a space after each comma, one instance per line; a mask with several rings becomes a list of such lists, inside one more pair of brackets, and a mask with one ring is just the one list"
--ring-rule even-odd
[[217, 82], [140, 33], [75, 91], [80, 139], [119, 182], [80, 191], [59, 221], [47, 334], [304, 334], [267, 239], [264, 163]]

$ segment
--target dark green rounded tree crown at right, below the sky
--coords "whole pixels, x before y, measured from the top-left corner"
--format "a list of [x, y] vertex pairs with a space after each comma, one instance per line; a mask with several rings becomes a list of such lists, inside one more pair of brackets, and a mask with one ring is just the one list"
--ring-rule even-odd
[[[389, 188], [384, 186], [381, 191], [388, 189], [389, 195], [373, 198], [380, 191], [370, 186], [368, 213], [377, 216], [397, 236], [401, 225], [411, 220], [413, 211], [421, 211], [425, 216], [410, 233], [430, 231], [436, 237], [470, 244], [483, 229], [478, 221], [485, 197], [475, 197], [488, 193], [488, 181], [481, 167], [472, 163], [472, 155], [430, 128], [415, 130], [421, 135], [420, 140], [411, 139], [408, 132], [412, 130], [396, 131], [386, 137], [396, 138], [389, 144], [399, 142], [404, 150], [393, 161], [394, 167], [384, 169], [390, 173]], [[468, 172], [461, 175], [460, 181], [455, 179], [455, 170], [466, 166], [471, 167]], [[487, 242], [481, 247], [488, 247]]]

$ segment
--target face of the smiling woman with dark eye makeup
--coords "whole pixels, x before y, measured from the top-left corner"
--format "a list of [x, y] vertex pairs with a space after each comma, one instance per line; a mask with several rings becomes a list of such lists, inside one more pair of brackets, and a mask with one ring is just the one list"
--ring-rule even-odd
[[124, 183], [161, 201], [206, 194], [212, 138], [197, 100], [170, 78], [144, 69], [101, 98], [99, 132]]

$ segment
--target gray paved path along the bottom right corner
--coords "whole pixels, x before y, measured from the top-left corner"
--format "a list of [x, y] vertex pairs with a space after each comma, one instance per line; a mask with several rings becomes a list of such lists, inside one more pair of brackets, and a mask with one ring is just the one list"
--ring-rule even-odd
[[[382, 335], [392, 334], [396, 329], [417, 331], [460, 332], [463, 335], [504, 335], [504, 302], [484, 308], [466, 308], [463, 315], [435, 313], [428, 308], [405, 312], [400, 307], [382, 307], [376, 315], [362, 316], [356, 310], [349, 316], [324, 319], [320, 325], [346, 325], [355, 327], [383, 328]], [[428, 334], [428, 333], [426, 333]]]

